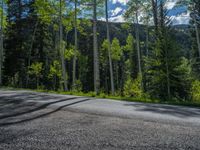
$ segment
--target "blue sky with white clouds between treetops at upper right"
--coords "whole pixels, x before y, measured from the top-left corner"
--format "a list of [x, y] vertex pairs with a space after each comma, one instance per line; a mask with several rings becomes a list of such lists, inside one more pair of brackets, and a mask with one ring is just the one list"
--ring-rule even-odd
[[[128, 0], [110, 0], [110, 20], [113, 22], [124, 22], [123, 13], [127, 9]], [[167, 0], [166, 8], [168, 9], [168, 16], [171, 17], [174, 25], [188, 24], [189, 12], [187, 6], [175, 7], [177, 0]]]

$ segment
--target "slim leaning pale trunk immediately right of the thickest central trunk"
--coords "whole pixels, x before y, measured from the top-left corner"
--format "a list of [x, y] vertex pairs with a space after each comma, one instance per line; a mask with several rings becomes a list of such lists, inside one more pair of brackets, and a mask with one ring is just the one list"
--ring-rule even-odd
[[110, 41], [110, 29], [108, 24], [108, 0], [105, 0], [105, 13], [106, 13], [106, 27], [107, 27], [107, 40], [108, 40], [108, 59], [109, 59], [109, 66], [110, 66], [110, 83], [111, 83], [111, 92], [112, 95], [115, 93], [114, 88], [114, 80], [113, 80], [113, 65], [112, 65], [112, 57], [111, 57], [111, 41]]

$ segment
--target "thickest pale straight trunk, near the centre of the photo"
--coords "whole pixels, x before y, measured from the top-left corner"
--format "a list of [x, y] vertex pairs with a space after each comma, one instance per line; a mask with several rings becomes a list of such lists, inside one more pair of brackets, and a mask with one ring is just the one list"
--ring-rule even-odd
[[93, 0], [93, 50], [94, 50], [94, 91], [99, 94], [100, 76], [99, 76], [99, 54], [97, 45], [97, 2]]

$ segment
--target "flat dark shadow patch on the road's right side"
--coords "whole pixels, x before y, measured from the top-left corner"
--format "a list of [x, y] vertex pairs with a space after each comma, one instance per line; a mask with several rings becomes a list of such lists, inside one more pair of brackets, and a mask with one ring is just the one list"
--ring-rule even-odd
[[125, 106], [133, 106], [136, 111], [153, 112], [180, 118], [200, 117], [200, 109], [198, 108], [142, 103], [125, 104]]

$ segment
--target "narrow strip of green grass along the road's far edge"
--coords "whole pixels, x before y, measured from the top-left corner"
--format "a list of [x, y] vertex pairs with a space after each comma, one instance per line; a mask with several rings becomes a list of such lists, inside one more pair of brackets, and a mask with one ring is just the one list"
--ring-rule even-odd
[[49, 91], [49, 90], [32, 90], [32, 89], [22, 89], [22, 88], [12, 88], [12, 87], [2, 87], [4, 90], [28, 90], [34, 92], [44, 92], [44, 93], [52, 93], [52, 94], [63, 94], [63, 95], [76, 95], [76, 96], [85, 96], [85, 97], [94, 97], [94, 98], [102, 98], [102, 99], [111, 99], [118, 101], [128, 101], [128, 102], [142, 102], [142, 103], [152, 103], [152, 104], [168, 104], [168, 105], [178, 105], [178, 106], [189, 106], [189, 107], [199, 107], [200, 101], [180, 101], [180, 100], [159, 100], [159, 99], [150, 99], [150, 98], [136, 98], [136, 97], [124, 97], [124, 96], [113, 96], [106, 95], [105, 93], [100, 93], [96, 95], [94, 92], [63, 92], [63, 91]]

